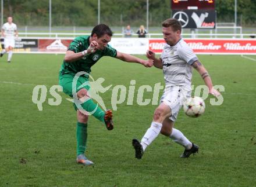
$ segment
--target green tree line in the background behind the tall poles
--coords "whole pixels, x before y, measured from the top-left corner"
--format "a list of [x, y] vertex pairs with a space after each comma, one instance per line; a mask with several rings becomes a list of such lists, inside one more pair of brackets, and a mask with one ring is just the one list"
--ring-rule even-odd
[[[98, 0], [52, 0], [52, 25], [92, 26], [98, 23]], [[216, 0], [217, 21], [234, 22], [234, 0]], [[146, 0], [101, 0], [101, 23], [140, 25], [146, 21]], [[149, 0], [149, 25], [159, 26], [172, 15], [170, 0]], [[49, 0], [4, 0], [4, 19], [13, 16], [19, 25], [49, 25]], [[256, 1], [237, 0], [241, 25], [256, 24]]]

